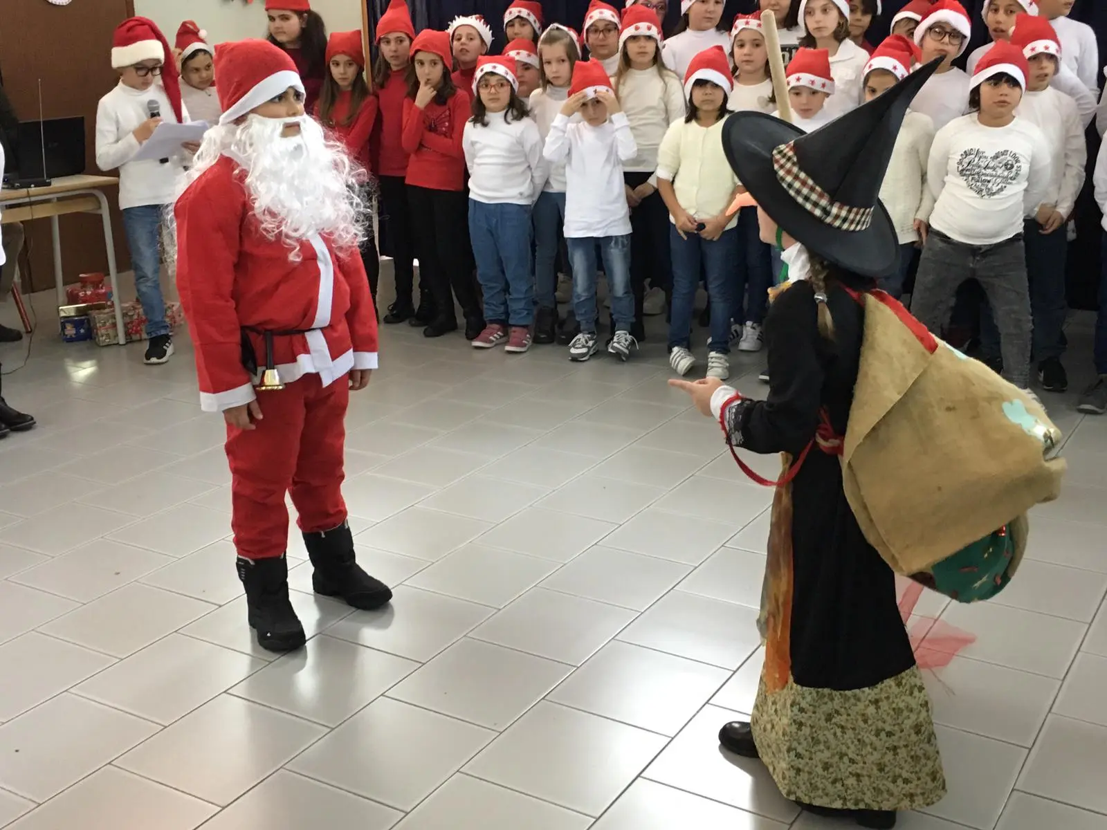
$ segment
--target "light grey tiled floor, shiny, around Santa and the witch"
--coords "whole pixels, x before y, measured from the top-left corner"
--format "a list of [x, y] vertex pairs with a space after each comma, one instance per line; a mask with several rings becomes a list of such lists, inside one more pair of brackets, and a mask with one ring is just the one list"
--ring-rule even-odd
[[[40, 426], [0, 443], [0, 827], [841, 827], [718, 749], [763, 660], [770, 494], [665, 386], [660, 336], [572, 365], [386, 328], [345, 495], [395, 600], [315, 599], [293, 528], [311, 640], [275, 658], [187, 339], [147, 367], [50, 328], [3, 378]], [[1073, 407], [1085, 318], [1070, 342], [1074, 393], [1047, 397], [1069, 486], [1024, 572], [992, 603], [919, 606], [977, 640], [928, 676], [950, 793], [906, 830], [1107, 830], [1107, 421]], [[759, 356], [734, 363], [757, 388]]]

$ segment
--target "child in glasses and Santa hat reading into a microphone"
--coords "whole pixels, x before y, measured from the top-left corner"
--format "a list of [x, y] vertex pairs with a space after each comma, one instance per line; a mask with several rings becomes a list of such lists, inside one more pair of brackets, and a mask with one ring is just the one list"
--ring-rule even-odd
[[120, 170], [123, 228], [149, 338], [145, 362], [161, 364], [173, 354], [162, 297], [162, 216], [176, 198], [185, 153], [195, 153], [199, 145], [183, 145], [161, 160], [132, 160], [163, 121], [189, 120], [180, 100], [176, 58], [153, 21], [130, 18], [120, 23], [112, 39], [112, 66], [120, 83], [96, 107], [96, 166]]

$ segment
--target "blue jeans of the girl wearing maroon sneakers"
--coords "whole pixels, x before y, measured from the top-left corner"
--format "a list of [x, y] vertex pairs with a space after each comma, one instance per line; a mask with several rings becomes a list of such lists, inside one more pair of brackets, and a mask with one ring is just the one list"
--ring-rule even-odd
[[535, 274], [530, 263], [530, 208], [469, 199], [469, 241], [477, 261], [488, 323], [535, 322]]

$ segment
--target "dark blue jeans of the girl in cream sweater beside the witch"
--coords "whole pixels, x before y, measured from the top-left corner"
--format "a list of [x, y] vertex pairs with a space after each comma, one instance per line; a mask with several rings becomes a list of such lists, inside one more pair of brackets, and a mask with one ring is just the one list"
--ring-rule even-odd
[[724, 230], [714, 241], [703, 239], [699, 234], [689, 234], [687, 239], [681, 239], [675, 225], [670, 226], [669, 232], [673, 257], [669, 349], [691, 349], [692, 312], [702, 268], [707, 282], [707, 298], [711, 300], [711, 351], [727, 354], [731, 351], [733, 263], [738, 255], [738, 228]]

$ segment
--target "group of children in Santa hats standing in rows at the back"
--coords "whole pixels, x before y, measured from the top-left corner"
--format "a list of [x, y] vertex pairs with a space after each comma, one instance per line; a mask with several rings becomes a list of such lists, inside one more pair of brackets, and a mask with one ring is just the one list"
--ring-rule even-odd
[[[643, 315], [661, 310], [650, 308], [651, 297], [664, 298], [670, 362], [691, 372], [701, 284], [710, 298], [707, 374], [728, 375], [732, 344], [761, 349], [768, 289], [795, 252], [761, 241], [756, 208], [731, 207], [743, 188], [722, 149], [726, 116], [778, 107], [759, 13], [726, 28], [723, 6], [681, 0], [680, 23], [665, 38], [655, 3], [628, 0], [620, 11], [593, 0], [581, 37], [547, 25], [540, 2], [514, 0], [503, 19], [507, 45], [490, 55], [494, 35], [482, 17], [416, 34], [404, 0], [392, 0], [375, 28], [366, 82], [360, 32], [328, 39], [307, 0], [268, 0], [270, 40], [300, 69], [309, 112], [366, 169], [366, 188], [375, 187], [381, 250], [395, 268], [396, 300], [384, 322], [441, 336], [458, 328], [456, 300], [476, 347], [525, 352], [558, 341], [583, 361], [601, 347], [602, 272], [607, 350], [622, 360], [644, 338]], [[882, 203], [902, 249], [884, 288], [900, 295], [914, 274], [913, 309], [939, 330], [956, 313], [961, 283], [975, 279], [989, 299], [985, 356], [1021, 387], [1036, 367], [1047, 391], [1067, 386], [1064, 258], [1084, 181], [1083, 132], [1098, 97], [1095, 39], [1065, 17], [1068, 6], [989, 0], [983, 18], [993, 43], [970, 56], [965, 72], [953, 61], [972, 21], [958, 0], [912, 0], [876, 48], [865, 33], [881, 13], [877, 0], [759, 0], [776, 18], [793, 123], [805, 131], [941, 61], [903, 123], [884, 180]], [[188, 115], [214, 120], [203, 32], [183, 24], [177, 48]], [[152, 80], [141, 63], [121, 71], [121, 86], [145, 96], [148, 84], [132, 83]], [[102, 167], [124, 165], [121, 201], [138, 178], [127, 175], [125, 157], [137, 142], [126, 139], [131, 131], [141, 139], [144, 122], [122, 124], [114, 144], [125, 153], [97, 153]], [[145, 174], [143, 181], [148, 187]], [[164, 189], [128, 199], [125, 219], [144, 204], [165, 204]], [[132, 226], [148, 226], [137, 218], [127, 229], [141, 255]], [[363, 257], [375, 297], [372, 242]], [[135, 259], [139, 283], [148, 283], [142, 256]], [[566, 319], [559, 272], [571, 272]], [[139, 289], [144, 307], [149, 293]], [[156, 310], [147, 317], [153, 344]], [[1099, 351], [1105, 375], [1107, 343]], [[1107, 409], [1101, 377], [1082, 406]]]

